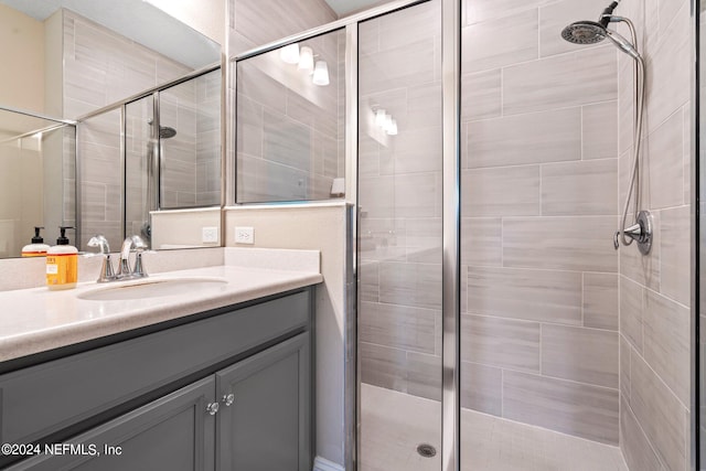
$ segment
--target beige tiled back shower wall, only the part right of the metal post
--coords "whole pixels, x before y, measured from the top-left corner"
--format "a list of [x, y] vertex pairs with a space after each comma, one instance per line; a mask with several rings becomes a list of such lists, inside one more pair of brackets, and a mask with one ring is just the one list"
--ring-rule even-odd
[[600, 1], [498, 3], [463, 3], [462, 405], [617, 445], [618, 53], [559, 36]]

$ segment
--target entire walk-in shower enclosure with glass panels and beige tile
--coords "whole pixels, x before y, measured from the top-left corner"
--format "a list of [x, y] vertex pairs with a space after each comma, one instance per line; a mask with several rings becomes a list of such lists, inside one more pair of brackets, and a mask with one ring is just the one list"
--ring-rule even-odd
[[[620, 21], [607, 24], [603, 7], [397, 1], [238, 58], [237, 202], [261, 174], [282, 180], [286, 200], [321, 199], [299, 196], [300, 173], [321, 156], [309, 146], [317, 127], [293, 115], [315, 101], [260, 67], [271, 79], [256, 84], [274, 81], [279, 95], [254, 104], [240, 78], [259, 54], [281, 58], [280, 46], [345, 29], [339, 146], [323, 157], [338, 156], [339, 173], [323, 176], [341, 178], [344, 148], [357, 213], [357, 443], [346, 469], [694, 462], [689, 6], [662, 9], [657, 29], [643, 2], [613, 2]], [[586, 34], [610, 41], [584, 44]], [[649, 75], [635, 81], [642, 57]], [[296, 152], [277, 152], [285, 133]], [[274, 162], [261, 161], [267, 146]], [[257, 192], [245, 202], [282, 199], [265, 183]], [[625, 201], [635, 208], [622, 215]], [[644, 235], [631, 224], [638, 210], [653, 218], [650, 250], [628, 244]]]

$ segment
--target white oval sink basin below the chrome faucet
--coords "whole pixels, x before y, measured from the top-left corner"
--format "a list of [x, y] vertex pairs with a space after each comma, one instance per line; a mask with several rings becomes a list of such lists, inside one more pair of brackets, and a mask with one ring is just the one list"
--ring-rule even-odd
[[186, 293], [220, 292], [227, 280], [223, 278], [164, 278], [127, 281], [101, 286], [77, 295], [88, 301], [127, 301], [131, 299], [162, 298]]

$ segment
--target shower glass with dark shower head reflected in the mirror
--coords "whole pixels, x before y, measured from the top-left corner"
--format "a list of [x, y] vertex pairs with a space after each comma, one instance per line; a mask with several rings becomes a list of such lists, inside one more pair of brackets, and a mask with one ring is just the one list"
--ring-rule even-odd
[[151, 212], [220, 205], [221, 69], [127, 104], [125, 139], [126, 235], [149, 244]]

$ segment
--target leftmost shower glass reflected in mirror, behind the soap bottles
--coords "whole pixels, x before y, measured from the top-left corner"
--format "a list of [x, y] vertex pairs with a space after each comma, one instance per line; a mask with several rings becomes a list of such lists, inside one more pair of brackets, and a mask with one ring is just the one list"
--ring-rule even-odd
[[75, 225], [75, 126], [0, 110], [0, 258], [19, 257], [34, 227], [54, 245]]

